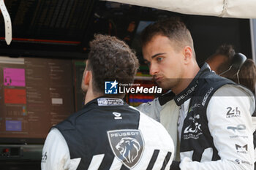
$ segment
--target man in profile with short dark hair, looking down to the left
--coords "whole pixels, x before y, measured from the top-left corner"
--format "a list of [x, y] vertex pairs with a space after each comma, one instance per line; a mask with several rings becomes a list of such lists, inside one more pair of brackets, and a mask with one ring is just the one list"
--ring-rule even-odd
[[171, 91], [138, 109], [151, 110], [150, 116], [161, 123], [170, 120], [167, 115], [178, 115], [178, 127], [168, 127], [168, 132], [175, 134], [178, 128], [181, 162], [173, 161], [170, 169], [254, 169], [253, 94], [211, 72], [207, 63], [199, 67], [192, 36], [178, 20], [148, 26], [141, 39], [150, 74]]

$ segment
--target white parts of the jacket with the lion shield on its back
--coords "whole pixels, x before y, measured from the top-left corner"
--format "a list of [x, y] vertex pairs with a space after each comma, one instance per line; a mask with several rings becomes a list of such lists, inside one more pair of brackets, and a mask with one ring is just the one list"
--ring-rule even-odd
[[[135, 109], [134, 107], [130, 108]], [[114, 118], [112, 112], [110, 115]], [[159, 150], [156, 160], [152, 164], [153, 169], [161, 169], [163, 163], [165, 162], [167, 152], [171, 152], [170, 161], [167, 162], [167, 166], [165, 167], [165, 169], [168, 170], [173, 161], [174, 146], [173, 141], [168, 135], [167, 131], [160, 123], [146, 116], [142, 112], [140, 112], [140, 120], [138, 125], [138, 129], [143, 134], [145, 147], [138, 165], [136, 165], [133, 169], [146, 170], [148, 164], [151, 163], [151, 158], [152, 155], [154, 155], [154, 151]], [[108, 155], [108, 153], [106, 154]], [[89, 170], [97, 170], [103, 157], [104, 154], [94, 155], [91, 160]], [[78, 168], [80, 161], [81, 158], [70, 159], [69, 147], [64, 139], [64, 136], [57, 128], [52, 128], [47, 136], [47, 139], [45, 140], [45, 145], [42, 150], [42, 170], [75, 170]], [[121, 169], [121, 166], [121, 161], [114, 158], [110, 170], [119, 170]]]

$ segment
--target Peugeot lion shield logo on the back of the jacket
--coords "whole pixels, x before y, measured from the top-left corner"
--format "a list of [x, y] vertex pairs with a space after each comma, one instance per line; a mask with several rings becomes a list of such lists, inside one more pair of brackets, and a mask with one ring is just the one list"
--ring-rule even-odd
[[143, 136], [140, 130], [108, 131], [110, 147], [118, 160], [132, 169], [140, 161], [143, 154]]

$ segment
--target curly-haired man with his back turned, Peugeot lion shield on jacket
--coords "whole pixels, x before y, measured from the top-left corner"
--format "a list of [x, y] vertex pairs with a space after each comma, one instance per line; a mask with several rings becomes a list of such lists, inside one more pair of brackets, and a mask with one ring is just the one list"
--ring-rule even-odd
[[42, 170], [170, 169], [173, 141], [157, 121], [124, 104], [124, 94], [105, 95], [105, 83], [132, 83], [135, 53], [113, 36], [90, 42], [81, 88], [85, 106], [51, 128], [42, 150]]

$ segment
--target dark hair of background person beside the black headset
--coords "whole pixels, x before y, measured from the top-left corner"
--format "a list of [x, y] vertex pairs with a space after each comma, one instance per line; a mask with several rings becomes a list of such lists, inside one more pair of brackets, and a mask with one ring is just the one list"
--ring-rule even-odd
[[219, 63], [219, 66], [217, 66], [217, 69], [215, 70], [217, 74], [220, 74], [230, 68], [231, 60], [235, 53], [236, 52], [233, 48], [233, 45], [221, 45], [217, 48], [213, 55], [207, 58], [206, 62], [211, 63], [218, 55], [224, 56], [225, 60], [222, 63]]

